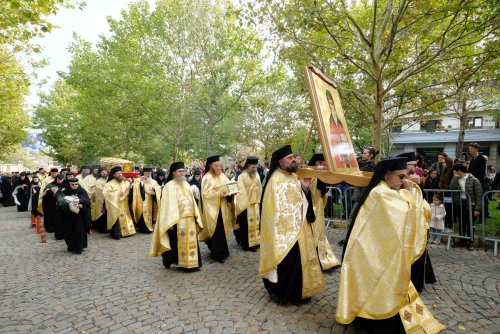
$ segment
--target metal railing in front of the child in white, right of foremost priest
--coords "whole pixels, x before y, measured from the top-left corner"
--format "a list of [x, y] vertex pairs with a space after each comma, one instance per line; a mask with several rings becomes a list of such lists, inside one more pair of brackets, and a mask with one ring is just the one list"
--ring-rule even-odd
[[463, 190], [451, 189], [424, 189], [424, 198], [432, 203], [435, 194], [439, 194], [446, 210], [445, 229], [441, 232], [430, 232], [433, 236], [446, 236], [448, 238], [446, 249], [451, 247], [452, 239], [465, 239], [474, 241], [474, 225], [472, 214], [472, 200]]

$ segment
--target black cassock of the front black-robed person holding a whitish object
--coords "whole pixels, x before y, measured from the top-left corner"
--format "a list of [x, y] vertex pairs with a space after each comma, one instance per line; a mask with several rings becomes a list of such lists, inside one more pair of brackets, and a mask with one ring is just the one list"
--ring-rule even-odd
[[[78, 213], [70, 210], [65, 196], [77, 196], [82, 208]], [[76, 189], [66, 189], [57, 196], [58, 213], [61, 218], [64, 241], [68, 245], [68, 251], [80, 254], [87, 248], [87, 233], [90, 232], [90, 199], [80, 185]]]

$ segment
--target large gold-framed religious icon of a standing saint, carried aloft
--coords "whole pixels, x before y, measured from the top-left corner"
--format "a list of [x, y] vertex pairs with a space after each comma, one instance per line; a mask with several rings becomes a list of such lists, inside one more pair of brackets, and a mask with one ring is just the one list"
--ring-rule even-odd
[[314, 67], [306, 68], [306, 80], [323, 154], [330, 172], [359, 172], [337, 85]]

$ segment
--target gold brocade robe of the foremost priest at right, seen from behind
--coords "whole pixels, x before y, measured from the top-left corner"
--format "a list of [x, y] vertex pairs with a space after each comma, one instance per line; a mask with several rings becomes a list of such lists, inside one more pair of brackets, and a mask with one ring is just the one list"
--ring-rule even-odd
[[407, 333], [444, 328], [411, 283], [411, 264], [424, 252], [429, 204], [415, 185], [391, 189], [381, 181], [360, 208], [346, 246], [336, 320], [387, 319], [400, 314]]

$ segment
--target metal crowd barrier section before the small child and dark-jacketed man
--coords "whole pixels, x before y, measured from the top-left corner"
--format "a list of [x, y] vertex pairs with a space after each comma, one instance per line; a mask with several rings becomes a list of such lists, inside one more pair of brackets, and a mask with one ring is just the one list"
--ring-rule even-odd
[[[451, 189], [424, 189], [424, 198], [427, 200], [427, 202], [432, 203], [432, 197], [435, 194], [441, 195], [441, 198], [443, 200], [443, 204], [445, 205], [445, 208], [450, 208], [451, 207], [451, 212], [446, 211], [446, 216], [451, 214], [451, 226], [452, 226], [452, 231], [451, 232], [430, 232], [431, 235], [440, 235], [440, 236], [446, 236], [448, 237], [448, 242], [446, 244], [446, 250], [449, 250], [451, 247], [451, 240], [453, 238], [456, 239], [469, 239], [471, 244], [474, 241], [474, 229], [476, 226], [474, 226], [474, 221], [472, 220], [472, 201], [471, 197], [468, 193], [466, 193], [463, 190], [451, 190]], [[462, 231], [462, 222], [463, 222], [463, 217], [462, 217], [462, 200], [460, 200], [460, 205], [459, 209], [455, 210], [455, 205], [453, 205], [453, 194], [459, 194], [460, 197], [462, 197], [463, 194], [465, 194], [465, 197], [467, 199], [467, 215], [469, 216], [469, 234], [470, 236], [465, 236], [461, 235], [460, 231]], [[446, 204], [451, 204], [446, 205]], [[455, 211], [459, 211], [457, 215]], [[449, 217], [449, 216], [448, 216]], [[457, 224], [455, 224], [457, 223]], [[446, 222], [445, 222], [445, 228], [446, 228]], [[458, 231], [457, 231], [458, 230]]]

